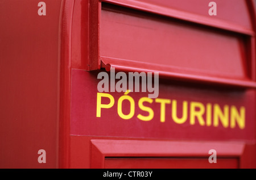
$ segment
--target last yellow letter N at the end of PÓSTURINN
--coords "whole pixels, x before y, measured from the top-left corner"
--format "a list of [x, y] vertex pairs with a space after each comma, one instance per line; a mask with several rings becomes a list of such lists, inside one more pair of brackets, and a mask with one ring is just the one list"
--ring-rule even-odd
[[235, 128], [236, 122], [240, 129], [245, 128], [245, 107], [240, 108], [240, 114], [237, 111], [235, 106], [231, 106], [230, 108], [230, 127]]

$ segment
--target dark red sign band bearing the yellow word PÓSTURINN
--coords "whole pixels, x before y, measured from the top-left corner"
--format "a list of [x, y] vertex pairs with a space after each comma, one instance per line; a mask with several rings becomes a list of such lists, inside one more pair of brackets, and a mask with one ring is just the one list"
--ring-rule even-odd
[[[72, 70], [72, 135], [201, 140], [251, 140], [254, 137], [255, 102], [251, 100], [255, 99], [254, 91], [181, 85], [160, 79], [159, 89], [154, 93], [130, 92], [132, 105], [128, 100], [120, 101], [124, 92], [103, 92], [113, 97], [112, 106], [106, 108], [102, 104], [109, 104], [110, 98], [101, 97], [98, 91], [98, 83], [102, 81], [97, 79], [98, 73]], [[113, 74], [107, 76], [114, 79]], [[141, 88], [141, 82], [139, 85]], [[154, 113], [149, 115], [149, 110], [139, 105], [139, 101], [155, 93], [158, 97], [151, 103], [143, 102]], [[166, 99], [166, 103], [161, 99]], [[128, 114], [129, 118], [124, 116]], [[181, 118], [183, 120], [179, 120]], [[110, 124], [111, 128], [106, 128]]]

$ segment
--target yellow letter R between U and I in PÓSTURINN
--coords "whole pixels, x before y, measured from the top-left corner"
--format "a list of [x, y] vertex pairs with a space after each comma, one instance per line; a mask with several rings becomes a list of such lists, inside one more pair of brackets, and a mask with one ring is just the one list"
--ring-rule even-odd
[[[196, 111], [196, 108], [199, 108], [198, 111]], [[190, 124], [194, 125], [196, 122], [196, 117], [199, 121], [200, 125], [205, 125], [203, 114], [205, 112], [204, 104], [199, 102], [191, 102], [190, 104]]]

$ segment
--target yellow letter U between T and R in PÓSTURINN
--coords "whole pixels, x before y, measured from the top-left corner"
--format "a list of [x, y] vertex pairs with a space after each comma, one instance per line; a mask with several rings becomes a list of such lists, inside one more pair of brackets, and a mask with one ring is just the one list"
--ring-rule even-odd
[[188, 119], [188, 102], [187, 101], [183, 101], [182, 110], [183, 110], [182, 118], [178, 118], [177, 117], [177, 101], [172, 100], [172, 119], [177, 124], [183, 124]]

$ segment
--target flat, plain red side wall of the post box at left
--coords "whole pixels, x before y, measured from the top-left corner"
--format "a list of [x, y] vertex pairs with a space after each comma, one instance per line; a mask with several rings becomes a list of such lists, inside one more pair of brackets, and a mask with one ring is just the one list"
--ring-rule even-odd
[[[0, 2], [0, 168], [59, 167], [61, 1]], [[46, 150], [46, 164], [38, 150]]]

